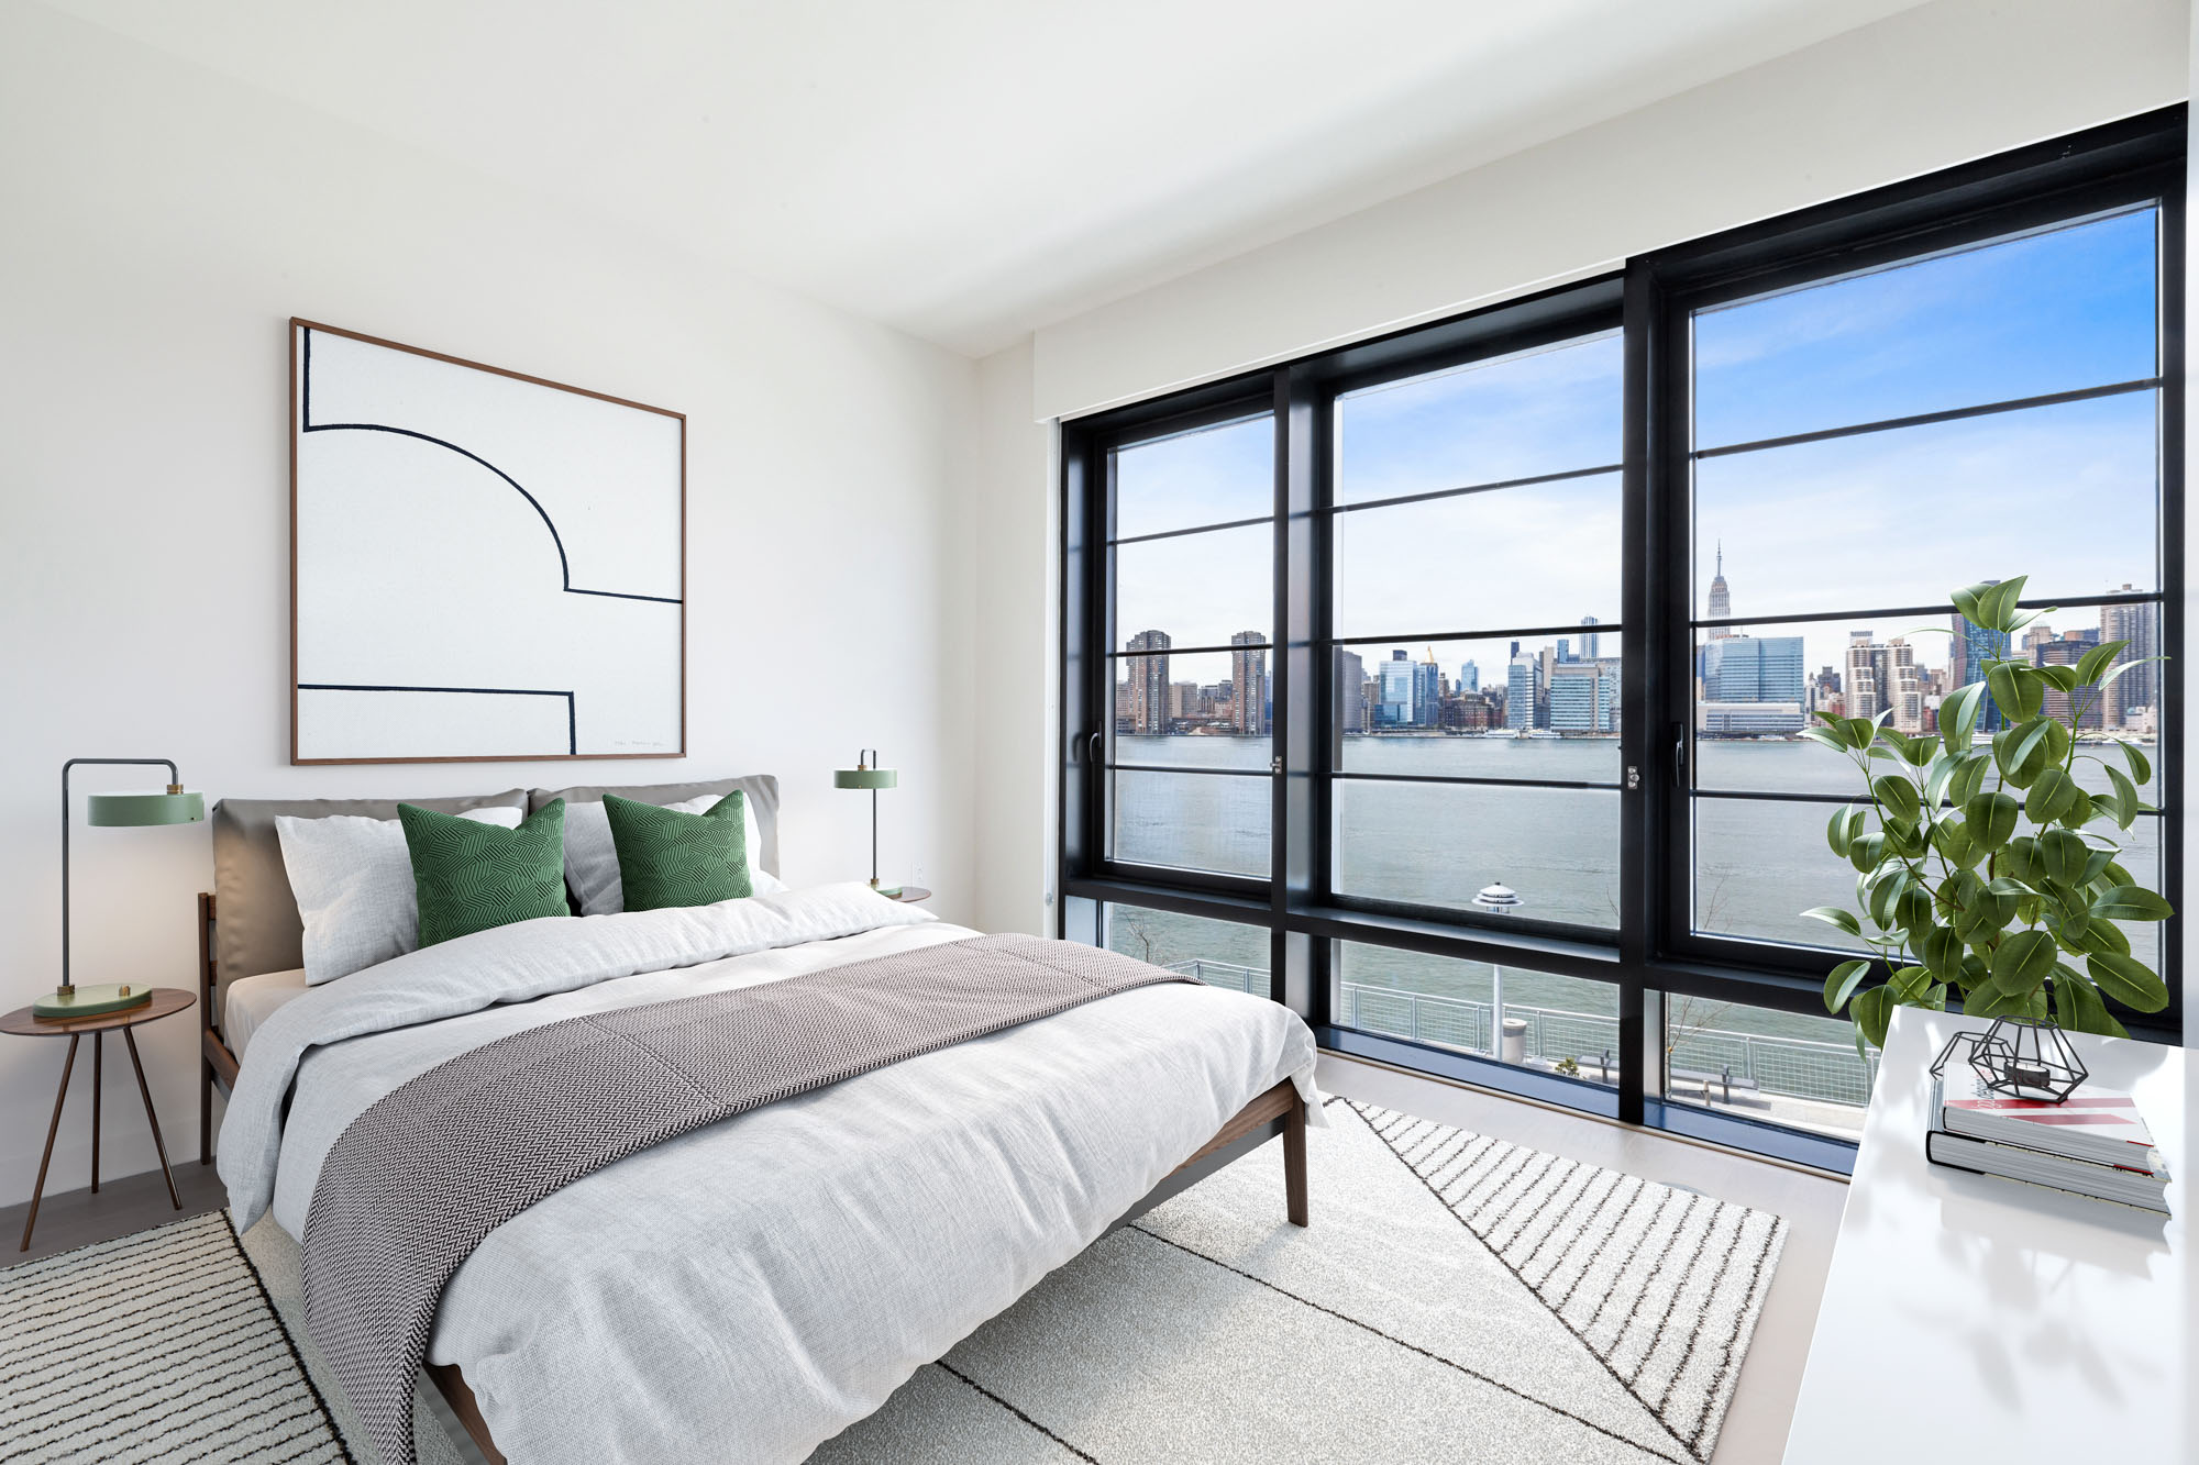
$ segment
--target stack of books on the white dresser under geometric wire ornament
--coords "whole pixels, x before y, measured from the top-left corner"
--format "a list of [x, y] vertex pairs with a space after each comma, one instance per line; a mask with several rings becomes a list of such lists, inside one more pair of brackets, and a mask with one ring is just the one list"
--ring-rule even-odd
[[2087, 1082], [2063, 1104], [2003, 1098], [1951, 1062], [1933, 1080], [1931, 1113], [1924, 1155], [1937, 1166], [2168, 1214], [2168, 1166], [2120, 1089]]

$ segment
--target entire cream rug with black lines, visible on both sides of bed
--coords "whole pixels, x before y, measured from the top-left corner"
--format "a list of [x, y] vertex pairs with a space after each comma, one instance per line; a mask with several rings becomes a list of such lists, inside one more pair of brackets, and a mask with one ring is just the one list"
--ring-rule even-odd
[[[1344, 1100], [1328, 1117], [1308, 1230], [1284, 1223], [1271, 1142], [1097, 1241], [811, 1465], [1711, 1458], [1779, 1216]], [[70, 1368], [101, 1359], [128, 1373]], [[376, 1461], [266, 1221], [242, 1249], [213, 1214], [0, 1271], [0, 1375], [9, 1461], [178, 1441], [207, 1463]], [[416, 1412], [422, 1465], [479, 1458], [424, 1381]]]

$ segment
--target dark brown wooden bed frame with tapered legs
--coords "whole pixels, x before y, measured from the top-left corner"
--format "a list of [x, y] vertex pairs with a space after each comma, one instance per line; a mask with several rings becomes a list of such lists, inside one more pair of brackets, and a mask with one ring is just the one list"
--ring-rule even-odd
[[[213, 1089], [220, 1084], [222, 1093], [231, 1093], [237, 1082], [237, 1056], [229, 1051], [229, 1043], [222, 1038], [220, 1012], [216, 1010], [218, 994], [218, 972], [213, 963], [213, 895], [200, 891], [198, 895], [198, 996], [205, 1012], [200, 1034], [200, 1091], [198, 1091], [198, 1164], [213, 1164]], [[1245, 1104], [1227, 1124], [1214, 1131], [1198, 1150], [1176, 1166], [1168, 1179], [1154, 1186], [1137, 1205], [1126, 1210], [1108, 1232], [1128, 1225], [1137, 1216], [1146, 1214], [1168, 1197], [1187, 1190], [1214, 1175], [1234, 1159], [1249, 1155], [1275, 1135], [1282, 1135], [1282, 1190], [1284, 1190], [1284, 1212], [1291, 1225], [1306, 1225], [1306, 1104], [1297, 1098], [1297, 1089], [1289, 1080], [1275, 1084], [1267, 1093], [1253, 1098]], [[451, 1412], [473, 1436], [473, 1443], [482, 1450], [482, 1456], [490, 1465], [506, 1465], [504, 1452], [497, 1450], [495, 1441], [488, 1436], [488, 1421], [482, 1419], [482, 1406], [473, 1397], [473, 1388], [466, 1386], [466, 1375], [457, 1370], [455, 1364], [429, 1364], [427, 1375], [442, 1390], [444, 1401], [449, 1401]]]

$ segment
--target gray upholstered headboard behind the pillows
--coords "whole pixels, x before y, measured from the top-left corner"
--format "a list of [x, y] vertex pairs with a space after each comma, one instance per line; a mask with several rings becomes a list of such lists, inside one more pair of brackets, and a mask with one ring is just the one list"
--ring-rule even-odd
[[213, 1012], [207, 1016], [220, 1023], [229, 1001], [229, 983], [237, 977], [259, 972], [288, 972], [306, 963], [306, 924], [297, 913], [297, 897], [290, 895], [290, 875], [281, 862], [281, 840], [275, 836], [275, 818], [325, 818], [330, 814], [358, 814], [365, 818], [396, 818], [398, 803], [413, 803], [440, 814], [462, 814], [466, 809], [526, 809], [534, 812], [552, 798], [567, 803], [598, 801], [607, 792], [647, 803], [679, 803], [699, 794], [748, 794], [756, 812], [756, 834], [763, 849], [754, 853], [756, 864], [778, 873], [778, 779], [752, 774], [745, 779], [708, 779], [701, 783], [644, 783], [644, 785], [576, 785], [554, 790], [508, 787], [499, 794], [473, 794], [464, 798], [222, 798], [213, 805], [213, 961], [216, 994]]

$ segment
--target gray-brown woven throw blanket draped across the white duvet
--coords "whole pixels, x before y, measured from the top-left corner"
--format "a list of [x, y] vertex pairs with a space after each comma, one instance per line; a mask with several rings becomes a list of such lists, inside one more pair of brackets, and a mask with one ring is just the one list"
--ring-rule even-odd
[[1157, 981], [1192, 979], [1091, 946], [972, 937], [460, 1054], [378, 1100], [321, 1161], [306, 1324], [383, 1458], [411, 1465], [444, 1282], [504, 1221], [704, 1124]]

